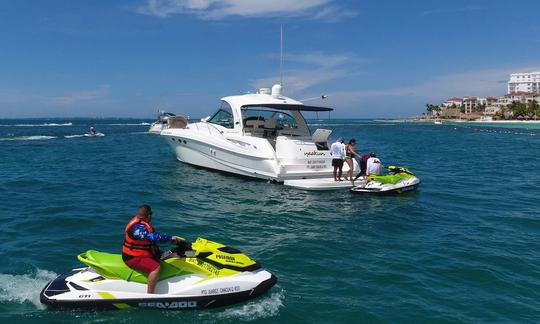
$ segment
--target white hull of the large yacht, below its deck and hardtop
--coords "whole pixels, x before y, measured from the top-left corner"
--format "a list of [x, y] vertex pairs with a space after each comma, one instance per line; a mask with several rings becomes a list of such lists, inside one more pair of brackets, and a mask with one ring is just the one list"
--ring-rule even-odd
[[[226, 137], [221, 134], [208, 136], [200, 131], [204, 125], [199, 124], [196, 131], [193, 130], [193, 125], [190, 127], [191, 129], [165, 129], [161, 132], [181, 162], [278, 182], [332, 177], [332, 158], [329, 151], [316, 151], [315, 143], [308, 140], [279, 139], [286, 150], [299, 150], [299, 154], [294, 157], [288, 155], [287, 158], [279, 158], [280, 150], [274, 151], [267, 140], [242, 136]], [[343, 172], [347, 171], [348, 166], [345, 163]]]

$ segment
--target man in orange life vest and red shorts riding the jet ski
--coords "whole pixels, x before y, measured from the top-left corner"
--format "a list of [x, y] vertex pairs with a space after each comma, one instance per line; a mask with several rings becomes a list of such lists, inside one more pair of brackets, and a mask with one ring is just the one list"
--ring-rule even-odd
[[148, 274], [147, 292], [149, 294], [154, 293], [159, 279], [161, 253], [157, 243], [184, 241], [178, 236], [154, 231], [154, 227], [150, 224], [151, 221], [152, 209], [150, 206], [140, 206], [137, 215], [126, 226], [122, 247], [124, 263], [134, 270]]

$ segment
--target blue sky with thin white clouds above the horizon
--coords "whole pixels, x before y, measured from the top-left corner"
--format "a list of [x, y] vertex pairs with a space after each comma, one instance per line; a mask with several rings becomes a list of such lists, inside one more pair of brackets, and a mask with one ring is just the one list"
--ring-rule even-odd
[[336, 118], [503, 95], [540, 70], [540, 1], [4, 0], [0, 118], [211, 114], [279, 82]]

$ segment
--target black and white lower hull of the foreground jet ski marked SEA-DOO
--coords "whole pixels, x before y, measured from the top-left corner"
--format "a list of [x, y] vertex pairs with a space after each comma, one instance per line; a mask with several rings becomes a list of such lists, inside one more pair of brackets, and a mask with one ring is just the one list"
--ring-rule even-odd
[[[126, 298], [117, 295], [114, 291], [95, 291], [84, 288], [70, 280], [86, 269], [74, 269], [70, 272], [58, 276], [49, 282], [40, 293], [40, 301], [48, 308], [60, 310], [106, 310], [106, 309], [126, 309], [126, 308], [147, 308], [164, 310], [194, 310], [204, 308], [215, 308], [232, 305], [256, 298], [266, 293], [272, 288], [277, 278], [273, 274], [268, 274], [266, 280], [261, 281], [251, 289], [239, 289], [233, 286], [230, 289], [234, 292], [209, 295], [174, 295], [174, 294], [134, 294]], [[243, 288], [243, 287], [242, 287]], [[223, 291], [215, 289], [216, 292]]]

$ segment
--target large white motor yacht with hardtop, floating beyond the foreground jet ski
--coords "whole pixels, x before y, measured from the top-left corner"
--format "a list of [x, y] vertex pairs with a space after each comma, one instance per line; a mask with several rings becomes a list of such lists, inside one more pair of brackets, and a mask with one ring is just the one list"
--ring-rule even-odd
[[188, 164], [277, 182], [329, 178], [332, 131], [311, 133], [302, 112], [331, 110], [285, 97], [276, 84], [222, 98], [220, 108], [197, 123], [171, 117], [160, 134], [177, 159]]

